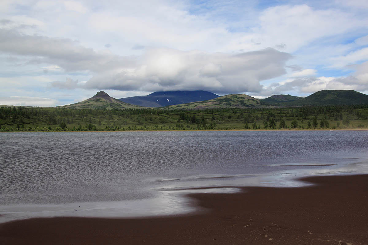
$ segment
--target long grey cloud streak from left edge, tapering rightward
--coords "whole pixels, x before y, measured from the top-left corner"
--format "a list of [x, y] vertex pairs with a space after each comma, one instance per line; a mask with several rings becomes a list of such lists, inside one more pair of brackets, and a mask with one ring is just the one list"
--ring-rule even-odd
[[25, 35], [0, 29], [0, 51], [29, 57], [27, 64], [53, 64], [66, 72], [101, 72], [134, 63], [110, 51], [95, 51], [71, 39]]

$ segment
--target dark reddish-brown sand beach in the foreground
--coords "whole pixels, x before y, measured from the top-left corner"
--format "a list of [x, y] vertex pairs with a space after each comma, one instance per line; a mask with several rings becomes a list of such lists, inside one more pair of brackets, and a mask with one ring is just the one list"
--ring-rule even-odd
[[47, 218], [0, 224], [0, 244], [368, 244], [368, 175], [318, 176], [298, 188], [190, 194], [204, 213]]

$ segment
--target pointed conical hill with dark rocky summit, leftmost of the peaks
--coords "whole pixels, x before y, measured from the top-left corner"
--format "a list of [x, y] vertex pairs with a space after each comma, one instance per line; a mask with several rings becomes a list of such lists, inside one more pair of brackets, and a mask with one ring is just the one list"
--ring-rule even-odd
[[110, 97], [104, 91], [100, 91], [92, 98], [86, 99], [81, 102], [77, 102], [71, 105], [64, 105], [66, 108], [77, 108], [77, 109], [139, 109], [141, 107], [137, 105], [131, 105], [116, 98]]

